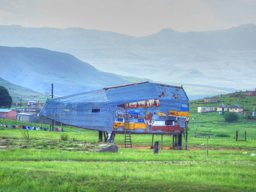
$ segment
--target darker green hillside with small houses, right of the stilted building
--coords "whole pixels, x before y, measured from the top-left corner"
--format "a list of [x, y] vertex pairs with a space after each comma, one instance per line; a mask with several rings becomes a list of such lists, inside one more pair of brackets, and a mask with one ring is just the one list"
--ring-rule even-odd
[[[245, 141], [245, 134], [248, 139], [255, 139], [256, 137], [256, 117], [247, 115], [239, 115], [237, 122], [225, 122], [224, 115], [219, 115], [217, 106], [224, 103], [228, 107], [235, 104], [244, 106], [244, 112], [252, 114], [253, 109], [256, 108], [256, 96], [246, 96], [245, 92], [231, 93], [218, 97], [217, 103], [205, 103], [204, 99], [197, 99], [189, 101], [190, 120], [188, 123], [188, 136], [196, 137], [196, 130], [198, 128], [198, 137], [201, 138], [221, 138], [234, 139], [236, 132], [239, 131], [239, 140]], [[214, 106], [214, 112], [198, 113], [198, 106]], [[198, 119], [198, 124], [197, 124]], [[245, 133], [246, 132], [246, 133]], [[223, 142], [220, 142], [220, 147]]]

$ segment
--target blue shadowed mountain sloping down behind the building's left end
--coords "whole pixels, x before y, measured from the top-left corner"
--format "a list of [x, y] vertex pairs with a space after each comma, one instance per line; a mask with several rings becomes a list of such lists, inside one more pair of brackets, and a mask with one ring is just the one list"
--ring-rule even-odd
[[147, 79], [100, 72], [67, 53], [0, 46], [0, 77], [41, 93], [70, 95]]

